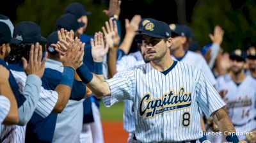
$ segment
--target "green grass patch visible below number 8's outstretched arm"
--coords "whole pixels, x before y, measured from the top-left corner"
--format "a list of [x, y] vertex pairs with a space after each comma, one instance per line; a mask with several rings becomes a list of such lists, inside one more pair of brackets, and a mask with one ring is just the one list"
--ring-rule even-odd
[[100, 116], [102, 121], [122, 121], [124, 102], [115, 103], [112, 107], [105, 107], [100, 102]]

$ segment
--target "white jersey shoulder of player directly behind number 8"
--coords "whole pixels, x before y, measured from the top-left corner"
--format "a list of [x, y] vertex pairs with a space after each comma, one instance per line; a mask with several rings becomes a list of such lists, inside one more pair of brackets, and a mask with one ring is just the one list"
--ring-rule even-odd
[[[177, 61], [177, 59], [174, 56], [172, 56], [172, 59]], [[186, 55], [181, 59], [181, 62], [184, 62], [191, 66], [195, 66], [196, 68], [201, 70], [202, 73], [204, 73], [205, 77], [213, 86], [216, 84], [216, 79], [208, 64], [206, 63], [204, 57], [201, 54], [188, 50]]]

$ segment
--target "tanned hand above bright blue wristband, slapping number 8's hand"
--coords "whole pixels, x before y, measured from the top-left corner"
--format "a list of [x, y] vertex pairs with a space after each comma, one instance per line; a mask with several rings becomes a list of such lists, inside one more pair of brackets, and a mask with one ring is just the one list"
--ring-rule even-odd
[[70, 66], [76, 70], [81, 65], [81, 59], [84, 55], [84, 45], [79, 39], [75, 40], [74, 43], [70, 43], [67, 47], [65, 55], [60, 54], [60, 60], [63, 66]]

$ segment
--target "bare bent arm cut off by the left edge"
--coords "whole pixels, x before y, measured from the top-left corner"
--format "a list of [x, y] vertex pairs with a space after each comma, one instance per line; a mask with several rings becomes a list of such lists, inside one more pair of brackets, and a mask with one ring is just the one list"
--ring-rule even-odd
[[1, 94], [6, 96], [10, 100], [10, 112], [4, 119], [4, 124], [17, 124], [19, 122], [18, 106], [12, 92], [11, 86], [8, 81], [1, 81], [0, 83]]

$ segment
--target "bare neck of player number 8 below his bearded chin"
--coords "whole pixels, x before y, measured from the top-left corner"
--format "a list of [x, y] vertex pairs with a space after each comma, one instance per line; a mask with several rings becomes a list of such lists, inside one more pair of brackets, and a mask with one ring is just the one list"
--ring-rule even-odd
[[171, 58], [170, 54], [166, 54], [158, 61], [150, 61], [150, 64], [154, 69], [158, 70], [159, 72], [163, 72], [172, 66], [173, 59]]

